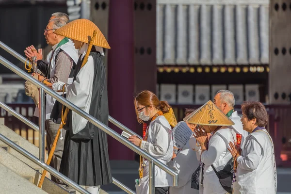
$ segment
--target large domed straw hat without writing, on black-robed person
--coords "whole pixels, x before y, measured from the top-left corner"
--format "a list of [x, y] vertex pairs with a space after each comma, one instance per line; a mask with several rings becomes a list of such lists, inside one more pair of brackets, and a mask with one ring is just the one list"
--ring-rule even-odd
[[[110, 49], [110, 46], [99, 28], [88, 19], [76, 19], [69, 22], [62, 28], [57, 29], [54, 33], [79, 40], [84, 43], [89, 43], [93, 32], [97, 30], [97, 34], [93, 45]], [[90, 39], [88, 38], [90, 36]]]

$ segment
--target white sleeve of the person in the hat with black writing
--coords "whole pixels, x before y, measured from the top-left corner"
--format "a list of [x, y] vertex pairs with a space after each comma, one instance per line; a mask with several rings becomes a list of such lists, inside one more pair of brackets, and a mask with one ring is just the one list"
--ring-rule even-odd
[[208, 150], [201, 154], [201, 162], [206, 165], [212, 165], [226, 151], [226, 143], [219, 135], [212, 136], [210, 141]]

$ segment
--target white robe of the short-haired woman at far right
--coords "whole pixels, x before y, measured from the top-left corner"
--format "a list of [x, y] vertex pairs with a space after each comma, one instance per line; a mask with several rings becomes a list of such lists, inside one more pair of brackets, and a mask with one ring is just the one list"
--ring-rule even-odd
[[267, 130], [258, 130], [245, 139], [237, 158], [234, 194], [275, 194], [276, 167], [274, 146]]

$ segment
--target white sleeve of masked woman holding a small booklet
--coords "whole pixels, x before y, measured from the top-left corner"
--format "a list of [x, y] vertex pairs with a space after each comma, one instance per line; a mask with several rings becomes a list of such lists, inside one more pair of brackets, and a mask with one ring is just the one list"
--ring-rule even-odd
[[159, 123], [154, 123], [151, 130], [151, 134], [155, 137], [155, 141], [153, 143], [142, 141], [141, 148], [154, 157], [164, 156], [169, 147], [169, 138], [172, 137]]

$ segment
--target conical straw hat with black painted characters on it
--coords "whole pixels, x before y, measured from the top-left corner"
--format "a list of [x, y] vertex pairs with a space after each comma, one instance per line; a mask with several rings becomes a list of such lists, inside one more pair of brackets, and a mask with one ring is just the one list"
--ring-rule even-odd
[[194, 113], [183, 119], [185, 122], [197, 125], [230, 126], [234, 123], [209, 100]]

